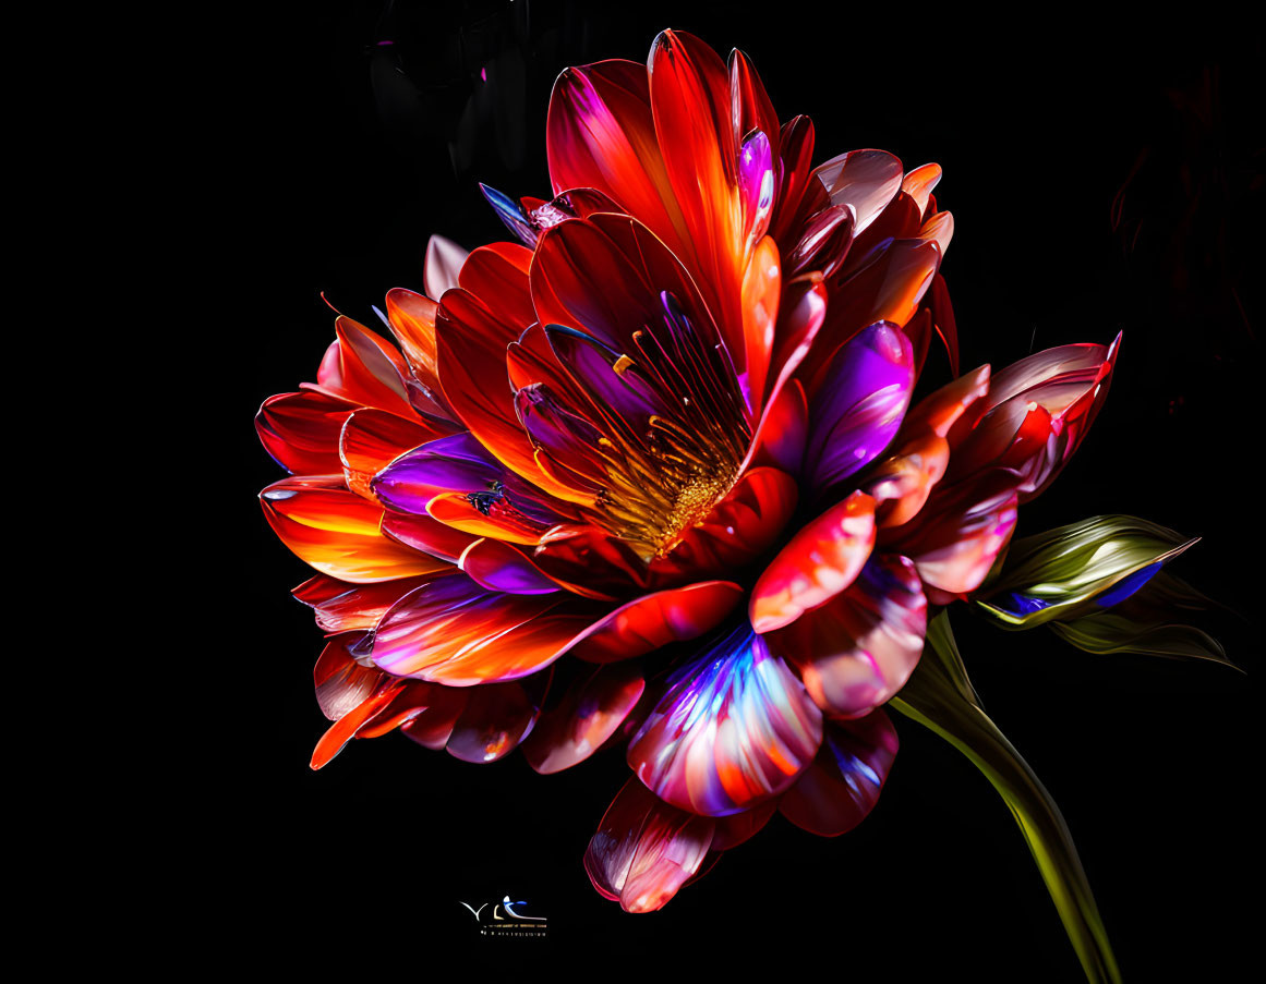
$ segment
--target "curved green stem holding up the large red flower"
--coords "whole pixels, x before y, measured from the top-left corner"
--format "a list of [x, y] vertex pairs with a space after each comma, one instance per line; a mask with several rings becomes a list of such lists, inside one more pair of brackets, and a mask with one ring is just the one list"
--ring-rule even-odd
[[923, 658], [891, 704], [958, 749], [993, 783], [1019, 823], [1086, 978], [1091, 984], [1119, 983], [1069, 827], [1028, 763], [981, 710], [946, 612], [928, 626]]

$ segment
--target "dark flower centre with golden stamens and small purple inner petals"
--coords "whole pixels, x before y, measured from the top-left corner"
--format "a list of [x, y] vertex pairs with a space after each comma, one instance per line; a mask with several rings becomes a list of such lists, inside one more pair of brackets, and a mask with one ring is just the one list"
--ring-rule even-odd
[[567, 401], [562, 386], [515, 392], [542, 467], [591, 492], [592, 507], [582, 512], [647, 562], [671, 553], [725, 497], [751, 444], [715, 329], [709, 321], [699, 330], [672, 295], [660, 298], [660, 319], [632, 331], [627, 352], [586, 331], [546, 326], [584, 406]]

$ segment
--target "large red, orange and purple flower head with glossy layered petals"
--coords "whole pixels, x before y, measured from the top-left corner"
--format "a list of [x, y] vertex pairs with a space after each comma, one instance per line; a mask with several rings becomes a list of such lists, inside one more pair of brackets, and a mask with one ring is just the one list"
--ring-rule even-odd
[[[775, 812], [861, 822], [899, 696], [952, 734], [912, 683], [934, 649], [972, 698], [936, 620], [1024, 581], [1018, 507], [1119, 339], [960, 374], [941, 168], [814, 167], [812, 123], [780, 125], [741, 52], [665, 32], [646, 66], [567, 70], [547, 130], [552, 199], [484, 188], [519, 242], [433, 238], [425, 293], [380, 312], [399, 349], [341, 315], [316, 382], [263, 403], [290, 477], [261, 501], [319, 572], [295, 589], [329, 635], [313, 766], [398, 729], [541, 773], [624, 744], [585, 865], [649, 911]], [[933, 335], [950, 378], [915, 401]], [[1100, 564], [1079, 603], [1165, 550]]]

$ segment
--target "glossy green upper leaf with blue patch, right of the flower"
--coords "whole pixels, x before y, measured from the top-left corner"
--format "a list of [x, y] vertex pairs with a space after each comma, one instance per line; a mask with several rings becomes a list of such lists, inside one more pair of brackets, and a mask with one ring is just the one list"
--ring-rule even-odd
[[1093, 516], [1013, 543], [976, 605], [1004, 629], [1076, 618], [1114, 586], [1131, 575], [1146, 578], [1147, 568], [1169, 563], [1198, 540], [1137, 516]]

